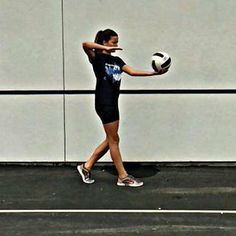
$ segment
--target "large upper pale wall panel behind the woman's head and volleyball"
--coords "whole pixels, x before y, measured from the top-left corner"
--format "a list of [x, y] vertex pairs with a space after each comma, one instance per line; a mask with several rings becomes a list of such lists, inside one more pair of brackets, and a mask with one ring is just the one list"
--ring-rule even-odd
[[66, 88], [94, 89], [81, 42], [107, 27], [134, 68], [150, 70], [159, 50], [172, 57], [165, 79], [124, 79], [123, 89], [235, 87], [235, 11], [235, 0], [66, 0]]

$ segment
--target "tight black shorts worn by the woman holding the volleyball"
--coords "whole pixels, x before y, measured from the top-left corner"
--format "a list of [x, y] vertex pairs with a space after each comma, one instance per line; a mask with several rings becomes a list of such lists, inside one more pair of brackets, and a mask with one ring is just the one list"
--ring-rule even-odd
[[118, 105], [95, 105], [96, 112], [103, 124], [120, 119]]

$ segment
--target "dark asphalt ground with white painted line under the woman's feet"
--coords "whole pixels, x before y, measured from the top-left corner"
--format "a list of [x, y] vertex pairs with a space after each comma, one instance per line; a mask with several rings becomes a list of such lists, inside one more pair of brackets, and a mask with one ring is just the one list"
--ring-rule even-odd
[[73, 164], [1, 165], [0, 235], [236, 235], [236, 167], [126, 168], [143, 187], [116, 186], [108, 164], [92, 185]]

